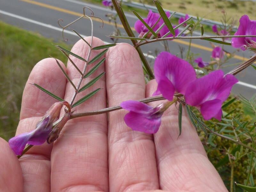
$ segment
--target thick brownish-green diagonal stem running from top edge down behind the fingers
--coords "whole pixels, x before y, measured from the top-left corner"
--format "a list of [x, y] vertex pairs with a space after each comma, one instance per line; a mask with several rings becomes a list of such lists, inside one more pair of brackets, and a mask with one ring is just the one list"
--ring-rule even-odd
[[[132, 32], [132, 29], [131, 29], [131, 27], [130, 27], [130, 25], [129, 25], [125, 15], [124, 15], [124, 12], [123, 12], [122, 8], [117, 3], [117, 0], [112, 0], [112, 3], [113, 3], [113, 5], [114, 5], [114, 7], [116, 9], [116, 12], [117, 12], [117, 14], [119, 16], [119, 19], [121, 20], [122, 25], [124, 26], [124, 29], [125, 29], [127, 35], [130, 36], [130, 37], [135, 37], [133, 32]], [[136, 47], [137, 40], [131, 39], [131, 41], [132, 41], [132, 44], [134, 45], [135, 49], [139, 53], [140, 60], [142, 61], [145, 69], [147, 70], [149, 78], [150, 79], [154, 79], [155, 78], [154, 73], [151, 70], [151, 68], [150, 68], [150, 66], [148, 64], [148, 61], [146, 60], [143, 52], [141, 51], [140, 47]]]

